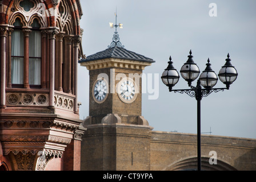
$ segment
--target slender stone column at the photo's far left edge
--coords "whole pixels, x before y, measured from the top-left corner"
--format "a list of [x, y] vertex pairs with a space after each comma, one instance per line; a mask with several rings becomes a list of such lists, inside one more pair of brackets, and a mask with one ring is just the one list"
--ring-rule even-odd
[[6, 84], [6, 32], [7, 26], [0, 26], [1, 38], [1, 85], [0, 85], [0, 107], [5, 108], [5, 84]]

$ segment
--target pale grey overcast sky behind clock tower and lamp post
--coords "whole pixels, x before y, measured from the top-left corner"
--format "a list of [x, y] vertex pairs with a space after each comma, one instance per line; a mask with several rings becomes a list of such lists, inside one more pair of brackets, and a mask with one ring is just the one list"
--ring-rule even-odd
[[[210, 16], [210, 3], [217, 16]], [[86, 56], [110, 45], [117, 23], [121, 43], [155, 60], [143, 73], [153, 74], [159, 96], [149, 100], [142, 94], [142, 115], [155, 131], [197, 133], [197, 101], [186, 94], [169, 92], [161, 81], [169, 56], [179, 72], [190, 49], [201, 73], [208, 57], [215, 73], [225, 64], [227, 53], [238, 71], [230, 90], [212, 93], [201, 101], [201, 132], [229, 137], [256, 138], [256, 1], [170, 1], [170, 0], [81, 0], [84, 29], [82, 46]], [[213, 12], [215, 13], [215, 11]], [[79, 66], [78, 100], [80, 118], [89, 115], [89, 71]], [[147, 77], [148, 78], [148, 77]], [[145, 80], [143, 80], [145, 81]], [[196, 85], [196, 81], [192, 83]], [[225, 87], [220, 80], [214, 88]], [[173, 89], [189, 89], [181, 77]]]

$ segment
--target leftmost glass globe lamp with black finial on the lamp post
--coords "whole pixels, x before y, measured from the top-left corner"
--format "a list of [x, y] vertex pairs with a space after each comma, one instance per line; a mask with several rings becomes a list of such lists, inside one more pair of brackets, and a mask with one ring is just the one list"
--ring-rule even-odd
[[168, 63], [169, 63], [169, 65], [165, 69], [165, 71], [163, 71], [161, 79], [162, 79], [163, 84], [168, 86], [169, 90], [171, 91], [173, 86], [175, 84], [177, 84], [177, 82], [179, 81], [179, 73], [173, 67], [173, 62], [171, 61], [171, 56], [170, 56], [170, 61]]

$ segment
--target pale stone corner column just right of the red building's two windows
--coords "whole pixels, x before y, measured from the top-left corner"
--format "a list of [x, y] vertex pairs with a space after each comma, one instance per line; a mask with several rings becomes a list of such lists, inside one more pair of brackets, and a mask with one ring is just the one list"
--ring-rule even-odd
[[57, 28], [50, 28], [47, 30], [49, 34], [49, 54], [50, 54], [50, 70], [49, 70], [49, 77], [50, 77], [50, 94], [49, 94], [49, 106], [54, 107], [54, 62], [55, 62], [55, 35], [58, 34]]

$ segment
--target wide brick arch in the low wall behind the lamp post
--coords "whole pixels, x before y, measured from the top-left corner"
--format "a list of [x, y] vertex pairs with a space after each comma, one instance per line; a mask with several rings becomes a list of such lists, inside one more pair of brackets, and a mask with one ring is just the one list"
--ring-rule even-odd
[[[204, 171], [237, 171], [233, 166], [217, 159], [217, 164], [209, 163], [209, 156], [201, 157], [201, 169]], [[183, 158], [163, 169], [163, 171], [193, 171], [197, 170], [197, 156]]]

